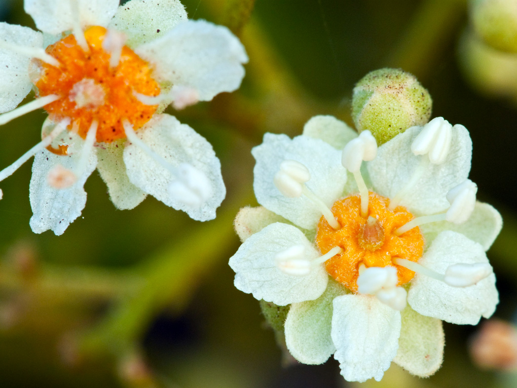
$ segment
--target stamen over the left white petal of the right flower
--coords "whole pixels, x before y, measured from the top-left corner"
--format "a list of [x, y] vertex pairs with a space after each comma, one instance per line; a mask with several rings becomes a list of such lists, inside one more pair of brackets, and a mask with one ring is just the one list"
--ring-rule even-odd
[[305, 258], [303, 245], [293, 245], [275, 255], [275, 264], [280, 271], [287, 275], [306, 276], [310, 274], [314, 267], [339, 255], [342, 251], [341, 247], [333, 247], [325, 255], [309, 260]]

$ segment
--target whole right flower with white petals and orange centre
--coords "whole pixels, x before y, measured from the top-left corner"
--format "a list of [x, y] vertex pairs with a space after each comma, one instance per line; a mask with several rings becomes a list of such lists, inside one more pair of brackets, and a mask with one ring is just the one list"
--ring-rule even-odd
[[285, 339], [300, 362], [334, 353], [349, 381], [379, 380], [391, 361], [433, 374], [440, 320], [476, 324], [498, 303], [485, 251], [501, 219], [476, 201], [471, 154], [468, 131], [442, 117], [380, 147], [330, 116], [292, 140], [266, 134], [253, 149], [264, 207], [235, 221], [235, 286], [291, 305]]

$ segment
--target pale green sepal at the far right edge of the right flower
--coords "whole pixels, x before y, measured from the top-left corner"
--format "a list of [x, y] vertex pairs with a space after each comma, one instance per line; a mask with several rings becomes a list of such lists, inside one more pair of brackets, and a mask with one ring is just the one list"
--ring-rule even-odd
[[426, 241], [433, 241], [444, 230], [452, 230], [481, 244], [486, 251], [492, 246], [502, 227], [503, 218], [493, 206], [484, 202], [476, 202], [474, 212], [464, 223], [457, 225], [447, 221], [431, 222], [422, 225], [420, 229]]

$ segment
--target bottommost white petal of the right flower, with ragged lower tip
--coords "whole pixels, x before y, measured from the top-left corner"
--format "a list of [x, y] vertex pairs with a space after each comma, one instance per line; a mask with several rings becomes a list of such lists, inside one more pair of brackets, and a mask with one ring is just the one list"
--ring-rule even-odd
[[332, 341], [346, 381], [380, 381], [397, 354], [400, 311], [372, 295], [343, 295], [334, 299]]

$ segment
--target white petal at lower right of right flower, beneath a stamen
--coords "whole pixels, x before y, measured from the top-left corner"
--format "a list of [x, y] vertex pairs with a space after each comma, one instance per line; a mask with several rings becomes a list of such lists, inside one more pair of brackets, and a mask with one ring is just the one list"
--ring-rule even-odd
[[[463, 234], [440, 233], [419, 264], [444, 274], [453, 264], [488, 263], [483, 247]], [[476, 285], [457, 288], [427, 276], [416, 274], [409, 288], [407, 302], [422, 315], [457, 324], [479, 322], [489, 318], [499, 302], [495, 276], [480, 280]]]

